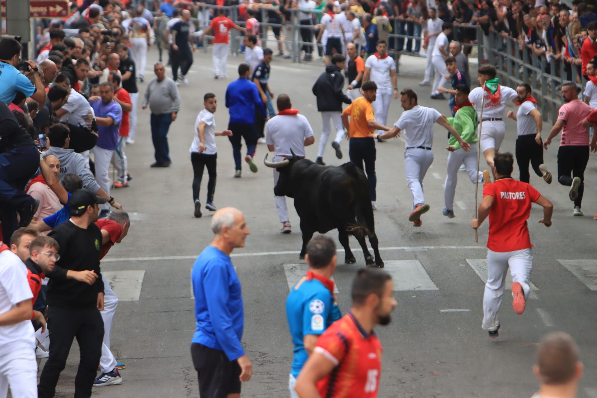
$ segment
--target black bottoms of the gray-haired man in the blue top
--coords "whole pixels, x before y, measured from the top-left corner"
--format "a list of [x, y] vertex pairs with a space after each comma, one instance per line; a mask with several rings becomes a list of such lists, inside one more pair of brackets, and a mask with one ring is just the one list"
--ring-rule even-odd
[[241, 367], [229, 360], [224, 351], [203, 344], [190, 345], [190, 355], [199, 379], [199, 397], [226, 398], [241, 393]]

